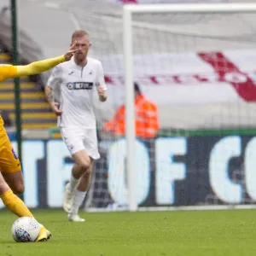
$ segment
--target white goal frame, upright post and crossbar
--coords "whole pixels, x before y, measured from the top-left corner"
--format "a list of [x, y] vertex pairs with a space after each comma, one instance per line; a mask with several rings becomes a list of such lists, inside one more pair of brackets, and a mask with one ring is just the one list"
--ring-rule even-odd
[[192, 3], [192, 4], [127, 4], [123, 7], [123, 44], [125, 57], [125, 89], [126, 89], [126, 139], [129, 210], [137, 210], [135, 193], [135, 115], [133, 83], [133, 14], [232, 14], [255, 13], [255, 3]]

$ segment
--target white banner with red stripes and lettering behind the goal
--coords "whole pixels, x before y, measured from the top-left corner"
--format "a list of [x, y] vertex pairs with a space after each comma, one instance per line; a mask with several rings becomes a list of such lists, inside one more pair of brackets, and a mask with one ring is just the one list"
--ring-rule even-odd
[[[123, 59], [102, 58], [106, 82], [124, 101]], [[137, 55], [135, 80], [161, 105], [256, 101], [256, 50]]]

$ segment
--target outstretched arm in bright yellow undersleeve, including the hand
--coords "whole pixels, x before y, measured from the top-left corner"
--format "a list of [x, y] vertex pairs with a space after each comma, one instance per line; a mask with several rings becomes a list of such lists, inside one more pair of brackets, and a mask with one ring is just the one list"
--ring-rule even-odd
[[72, 58], [76, 50], [77, 50], [77, 47], [76, 47], [76, 41], [75, 41], [72, 47], [67, 51], [65, 55], [61, 55], [51, 59], [46, 59], [43, 61], [35, 61], [26, 66], [17, 66], [17, 77], [43, 73], [64, 61], [70, 61], [70, 59]]

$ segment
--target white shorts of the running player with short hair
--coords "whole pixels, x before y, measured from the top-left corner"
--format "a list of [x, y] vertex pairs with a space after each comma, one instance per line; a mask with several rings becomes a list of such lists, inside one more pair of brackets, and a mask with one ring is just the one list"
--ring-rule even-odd
[[92, 159], [100, 158], [96, 129], [61, 128], [61, 137], [70, 154], [85, 150]]

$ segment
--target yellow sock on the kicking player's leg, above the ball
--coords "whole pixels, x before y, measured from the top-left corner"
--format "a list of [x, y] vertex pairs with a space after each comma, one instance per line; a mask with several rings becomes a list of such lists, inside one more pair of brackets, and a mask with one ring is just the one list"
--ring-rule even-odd
[[26, 205], [20, 198], [13, 193], [11, 189], [0, 195], [3, 204], [19, 217], [33, 217]]

